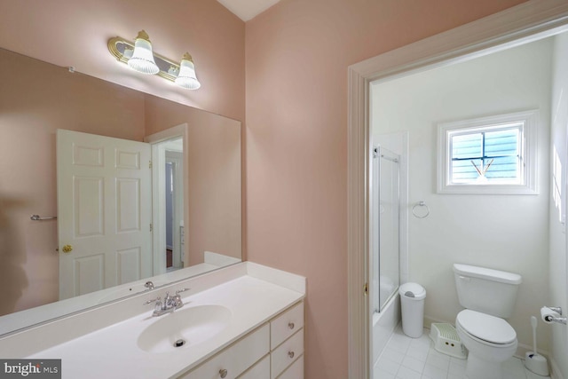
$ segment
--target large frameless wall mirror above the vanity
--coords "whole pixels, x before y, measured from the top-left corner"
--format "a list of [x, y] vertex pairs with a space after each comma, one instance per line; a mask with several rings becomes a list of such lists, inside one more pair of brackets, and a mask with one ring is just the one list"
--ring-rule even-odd
[[[0, 83], [0, 335], [148, 290], [147, 278], [158, 287], [241, 261], [241, 122], [4, 49]], [[150, 224], [162, 219], [173, 232], [149, 232], [149, 269], [141, 270], [130, 250], [114, 255], [118, 269], [107, 277], [95, 265], [72, 263], [75, 272], [59, 265], [62, 255], [79, 249], [63, 252], [63, 246], [90, 243], [58, 238], [65, 234], [58, 231], [62, 218], [73, 224], [81, 216], [76, 209], [58, 214], [67, 212], [61, 206], [73, 195], [59, 193], [58, 207], [57, 130], [150, 144], [160, 168], [140, 162], [152, 170], [154, 186], [151, 206], [143, 205]], [[122, 186], [126, 202], [134, 198], [129, 183]], [[136, 218], [127, 216], [126, 222]], [[80, 274], [97, 280], [78, 285], [73, 278]], [[63, 275], [71, 281], [60, 284]]]

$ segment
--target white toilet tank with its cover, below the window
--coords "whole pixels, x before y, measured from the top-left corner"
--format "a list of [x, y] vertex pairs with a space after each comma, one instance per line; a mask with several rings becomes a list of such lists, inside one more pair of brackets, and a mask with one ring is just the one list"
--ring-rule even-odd
[[455, 287], [461, 306], [508, 319], [517, 301], [518, 273], [454, 264]]

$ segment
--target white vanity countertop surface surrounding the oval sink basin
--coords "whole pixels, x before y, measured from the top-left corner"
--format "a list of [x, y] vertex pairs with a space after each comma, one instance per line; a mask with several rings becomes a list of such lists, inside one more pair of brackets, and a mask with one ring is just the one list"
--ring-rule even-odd
[[[203, 343], [172, 347], [168, 352], [141, 350], [137, 340], [142, 331], [170, 314], [152, 317], [153, 306], [140, 304], [138, 316], [38, 351], [28, 358], [62, 359], [62, 377], [67, 379], [175, 378], [304, 298], [302, 285], [281, 285], [286, 282], [287, 273], [255, 264], [247, 267], [248, 272], [238, 278], [194, 295], [190, 290], [184, 297], [185, 305], [177, 312], [197, 305], [219, 304], [233, 313], [229, 325]], [[184, 283], [178, 284], [178, 288], [184, 288]]]

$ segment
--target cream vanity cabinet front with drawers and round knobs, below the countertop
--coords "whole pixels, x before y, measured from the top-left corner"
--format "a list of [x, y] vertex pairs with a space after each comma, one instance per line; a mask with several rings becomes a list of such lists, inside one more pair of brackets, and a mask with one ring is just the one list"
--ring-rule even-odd
[[217, 352], [179, 379], [303, 379], [304, 302]]

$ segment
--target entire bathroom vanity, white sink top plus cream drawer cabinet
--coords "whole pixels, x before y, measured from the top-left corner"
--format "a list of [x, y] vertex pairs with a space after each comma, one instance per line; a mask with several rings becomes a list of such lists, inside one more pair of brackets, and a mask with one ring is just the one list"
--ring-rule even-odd
[[[61, 359], [63, 379], [304, 379], [305, 284], [241, 262], [0, 336], [0, 351], [5, 359]], [[154, 318], [142, 305], [179, 288], [193, 288], [181, 311]], [[180, 337], [187, 344], [174, 346]]]

